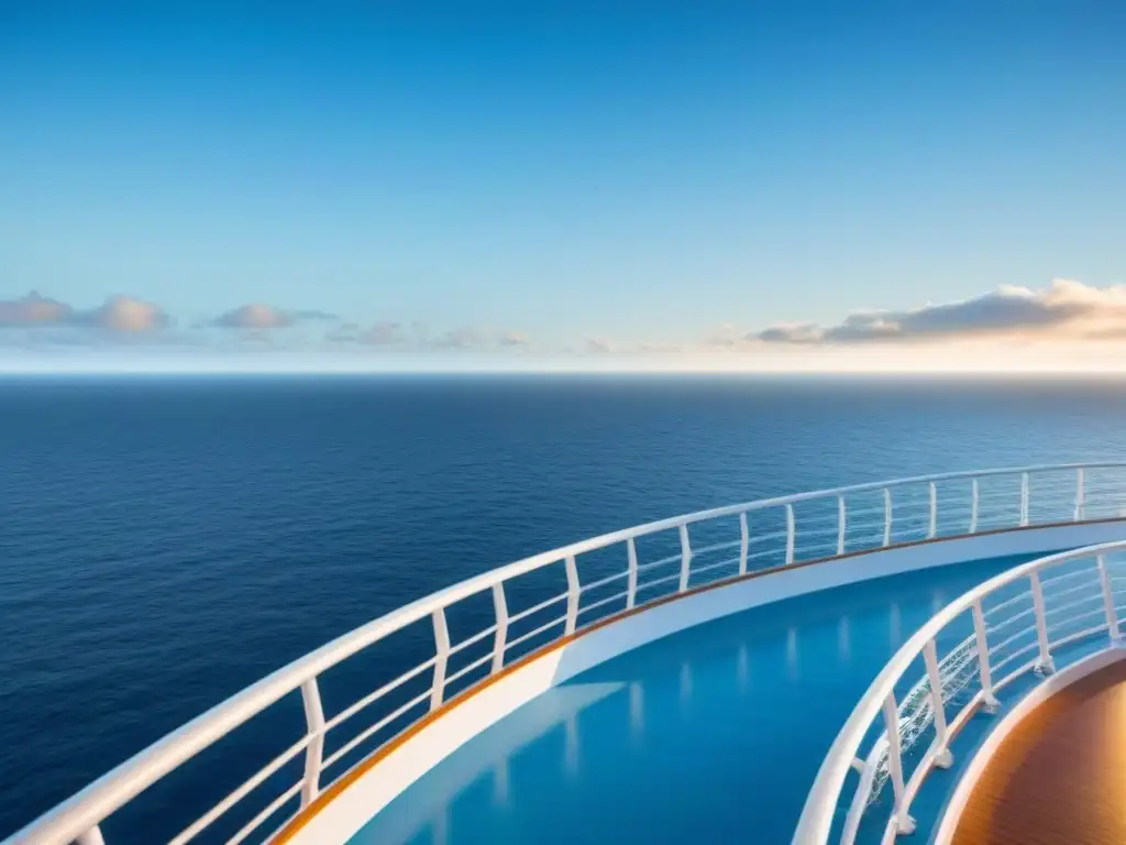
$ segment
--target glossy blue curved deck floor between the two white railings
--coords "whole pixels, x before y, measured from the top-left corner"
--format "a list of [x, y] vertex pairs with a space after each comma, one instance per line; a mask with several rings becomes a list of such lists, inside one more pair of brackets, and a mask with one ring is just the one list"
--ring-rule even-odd
[[1030, 557], [803, 596], [623, 655], [464, 745], [351, 845], [722, 843], [749, 831], [788, 843], [825, 749], [887, 659], [944, 604]]

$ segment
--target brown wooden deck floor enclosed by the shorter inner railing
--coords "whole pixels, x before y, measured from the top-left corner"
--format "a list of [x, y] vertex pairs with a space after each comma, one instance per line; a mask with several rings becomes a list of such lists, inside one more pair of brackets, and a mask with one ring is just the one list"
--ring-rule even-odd
[[1053, 695], [990, 760], [954, 845], [1126, 843], [1126, 661]]

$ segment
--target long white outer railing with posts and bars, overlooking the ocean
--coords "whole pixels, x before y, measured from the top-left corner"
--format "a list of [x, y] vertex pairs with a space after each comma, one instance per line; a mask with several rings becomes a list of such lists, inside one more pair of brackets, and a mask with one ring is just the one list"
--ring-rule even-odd
[[[203, 803], [208, 809], [194, 820], [184, 819], [182, 828], [170, 837], [175, 845], [205, 831], [208, 840], [266, 840], [329, 784], [450, 697], [607, 616], [776, 567], [910, 542], [1124, 515], [1126, 464], [1067, 464], [955, 472], [785, 496], [573, 543], [462, 581], [340, 637], [126, 760], [12, 842], [99, 845], [100, 826], [109, 816], [221, 739], [227, 741], [241, 726], [265, 723], [268, 709], [272, 712], [274, 705], [300, 695], [303, 733], [291, 733], [294, 741], [287, 747], [278, 742], [276, 756], [249, 777], [240, 775], [236, 785], [226, 783], [231, 776], [226, 758], [206, 777], [200, 775], [197, 780], [213, 791], [224, 783], [225, 795]], [[404, 655], [418, 661], [404, 665]], [[367, 686], [377, 688], [363, 696], [349, 694], [347, 705], [330, 714], [322, 703], [325, 675], [354, 661], [364, 662], [354, 676], [368, 684], [372, 678], [385, 683]], [[355, 688], [355, 682], [348, 686]], [[276, 741], [275, 735], [284, 731], [274, 726], [271, 721], [269, 739]], [[229, 757], [267, 758], [261, 745], [256, 740], [254, 754], [240, 750]], [[891, 774], [894, 780], [894, 768]], [[202, 785], [195, 783], [190, 790], [191, 801], [184, 795], [166, 801], [161, 819], [167, 822], [195, 803], [205, 791]], [[111, 826], [120, 824], [127, 831], [127, 813], [124, 810]]]

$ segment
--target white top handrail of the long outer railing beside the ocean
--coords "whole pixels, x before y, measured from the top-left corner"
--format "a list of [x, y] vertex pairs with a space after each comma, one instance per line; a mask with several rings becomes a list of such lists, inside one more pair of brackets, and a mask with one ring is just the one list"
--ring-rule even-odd
[[[47, 812], [45, 816], [41, 817], [38, 820], [34, 821], [28, 827], [24, 828], [21, 831], [15, 835], [12, 839], [8, 840], [10, 843], [19, 843], [19, 845], [66, 845], [73, 840], [91, 842], [98, 843], [101, 840], [101, 834], [98, 830], [98, 825], [110, 813], [118, 810], [125, 803], [131, 801], [142, 791], [148, 789], [154, 782], [169, 774], [186, 760], [199, 754], [205, 748], [213, 745], [215, 741], [222, 737], [230, 733], [235, 728], [245, 723], [248, 720], [257, 715], [258, 713], [266, 710], [271, 704], [276, 703], [282, 697], [297, 691], [298, 688], [305, 688], [305, 695], [312, 699], [319, 695], [316, 690], [316, 678], [327, 669], [336, 666], [342, 660], [348, 659], [352, 655], [361, 651], [363, 649], [372, 646], [375, 642], [388, 637], [390, 634], [406, 628], [408, 625], [418, 622], [427, 616], [435, 616], [435, 614], [443, 613], [445, 608], [453, 604], [456, 604], [471, 596], [493, 590], [498, 585], [503, 585], [519, 576], [526, 575], [534, 570], [543, 567], [547, 567], [555, 563], [568, 563], [568, 577], [569, 577], [569, 593], [572, 596], [578, 595], [578, 573], [574, 569], [574, 561], [579, 555], [584, 553], [596, 551], [599, 549], [605, 549], [607, 546], [617, 545], [619, 543], [626, 543], [628, 546], [628, 577], [629, 584], [627, 587], [626, 603], [628, 607], [634, 606], [635, 594], [637, 590], [652, 586], [656, 581], [650, 581], [645, 584], [637, 584], [637, 553], [635, 541], [638, 537], [658, 534], [669, 530], [677, 530], [681, 536], [681, 554], [679, 555], [681, 560], [681, 572], [679, 578], [679, 592], [683, 592], [688, 588], [688, 577], [691, 575], [692, 570], [690, 564], [695, 560], [695, 555], [703, 555], [704, 550], [692, 550], [690, 546], [688, 527], [697, 523], [705, 521], [722, 518], [726, 516], [739, 516], [740, 527], [742, 536], [738, 539], [741, 552], [739, 562], [739, 572], [742, 573], [747, 570], [747, 514], [752, 510], [766, 510], [769, 508], [781, 507], [785, 509], [787, 531], [784, 536], [786, 537], [785, 544], [785, 561], [790, 563], [795, 561], [795, 516], [794, 516], [794, 505], [799, 502], [805, 502], [816, 499], [839, 499], [838, 513], [841, 521], [840, 526], [837, 528], [831, 528], [834, 536], [833, 541], [830, 541], [830, 545], [835, 545], [838, 552], [844, 548], [844, 497], [852, 496], [856, 493], [863, 493], [867, 491], [884, 490], [890, 491], [892, 488], [903, 488], [918, 483], [927, 483], [931, 490], [930, 498], [930, 512], [929, 512], [929, 525], [930, 530], [928, 532], [929, 536], [933, 536], [936, 530], [936, 519], [938, 518], [935, 509], [938, 507], [937, 500], [933, 498], [933, 486], [936, 483], [941, 483], [945, 481], [953, 481], [959, 479], [972, 479], [973, 480], [973, 491], [977, 491], [977, 482], [984, 478], [1001, 478], [1001, 477], [1021, 477], [1027, 478], [1029, 474], [1036, 475], [1039, 473], [1057, 473], [1057, 472], [1069, 472], [1075, 471], [1076, 478], [1079, 479], [1078, 490], [1071, 490], [1069, 495], [1069, 514], [1067, 516], [1082, 516], [1085, 517], [1097, 510], [1098, 502], [1091, 502], [1084, 500], [1083, 498], [1083, 478], [1084, 473], [1089, 475], [1090, 470], [1098, 469], [1123, 469], [1126, 468], [1126, 462], [1105, 462], [1105, 463], [1069, 463], [1069, 464], [1043, 464], [1033, 466], [1018, 466], [1018, 468], [1004, 468], [997, 470], [984, 470], [984, 471], [960, 471], [960, 472], [946, 472], [931, 475], [917, 475], [910, 478], [894, 479], [890, 481], [876, 481], [863, 484], [854, 484], [848, 487], [837, 487], [825, 490], [817, 490], [812, 492], [796, 493], [790, 496], [775, 497], [770, 499], [760, 499], [749, 502], [742, 502], [739, 505], [729, 505], [720, 508], [712, 508], [708, 510], [700, 510], [692, 514], [686, 514], [682, 516], [670, 517], [667, 519], [660, 519], [656, 522], [645, 523], [643, 525], [637, 525], [632, 528], [624, 528], [620, 531], [610, 532], [602, 534], [600, 536], [591, 537], [589, 540], [583, 540], [577, 543], [571, 543], [569, 545], [561, 546], [547, 552], [542, 552], [539, 554], [525, 558], [524, 560], [509, 563], [508, 566], [493, 569], [491, 571], [484, 572], [482, 575], [468, 578], [459, 584], [455, 584], [445, 589], [438, 590], [429, 596], [419, 598], [410, 604], [400, 607], [399, 610], [392, 611], [379, 619], [376, 619], [367, 624], [360, 625], [354, 631], [343, 634], [342, 637], [332, 640], [331, 642], [322, 646], [315, 651], [291, 662], [289, 665], [278, 669], [277, 671], [268, 675], [256, 684], [249, 686], [242, 692], [235, 694], [234, 696], [227, 699], [221, 704], [212, 708], [207, 712], [186, 723], [178, 730], [168, 735], [163, 739], [153, 744], [149, 748], [142, 750], [134, 757], [129, 758], [125, 763], [120, 764], [102, 777], [98, 779], [89, 786], [83, 789], [81, 792], [73, 795], [68, 801], [63, 802], [54, 810]], [[1022, 486], [1022, 491], [1026, 489]], [[1126, 483], [1121, 486], [1121, 491], [1126, 496]], [[1027, 523], [1027, 512], [1025, 506], [1025, 500], [1027, 496], [1022, 492], [1021, 498], [1021, 522]], [[1126, 498], [1123, 499], [1126, 501]], [[1080, 508], [1075, 507], [1075, 502], [1083, 502], [1082, 513]], [[977, 504], [977, 497], [974, 496], [973, 499], [973, 517], [969, 524], [969, 533], [975, 533], [977, 530], [977, 512], [981, 506]], [[1074, 513], [1072, 513], [1074, 510]], [[849, 517], [851, 523], [848, 527], [866, 527], [859, 524], [856, 519], [857, 514], [852, 514]], [[1003, 518], [1008, 519], [1008, 516], [1002, 515]], [[1070, 521], [1070, 519], [1069, 519]], [[884, 545], [891, 542], [891, 521], [885, 517], [885, 524], [883, 525], [883, 536]], [[1013, 524], [1011, 527], [1018, 527]], [[815, 533], [815, 532], [811, 532]], [[892, 543], [894, 544], [894, 543]], [[718, 546], [716, 546], [718, 548]], [[850, 550], [850, 551], [868, 551], [874, 550], [876, 544], [866, 544], [863, 549]], [[625, 555], [624, 562], [625, 562]], [[751, 555], [754, 557], [754, 555]], [[736, 575], [736, 572], [732, 572]], [[661, 579], [664, 580], [664, 579]], [[641, 603], [640, 603], [641, 604]], [[501, 607], [502, 605], [497, 605]], [[578, 612], [578, 598], [569, 601], [568, 617], [565, 620], [560, 620], [560, 623], [566, 622], [566, 625], [561, 628], [561, 634], [564, 630], [570, 632], [575, 625], [575, 615]], [[507, 614], [507, 608], [504, 610]], [[515, 616], [512, 617], [515, 619]], [[590, 620], [593, 622], [595, 620]], [[589, 624], [590, 622], [584, 622]], [[498, 625], [500, 622], [498, 621]], [[544, 629], [548, 629], [551, 625], [545, 625]], [[498, 629], [500, 630], [500, 629]], [[507, 632], [506, 632], [507, 633]], [[440, 631], [439, 631], [440, 637]], [[497, 642], [500, 643], [500, 648], [504, 648], [506, 637], [501, 634], [497, 638]], [[511, 647], [517, 640], [510, 640], [507, 646]], [[440, 643], [439, 643], [440, 644]], [[441, 649], [439, 648], [439, 651]], [[432, 659], [432, 658], [431, 658]], [[499, 655], [497, 659], [493, 660], [492, 669], [498, 671], [503, 668], [503, 655]], [[441, 701], [441, 679], [438, 679], [438, 673], [436, 673], [435, 691], [432, 701]], [[313, 708], [307, 713], [312, 713], [313, 717], [316, 715], [316, 708]], [[321, 720], [323, 721], [323, 714], [321, 714]], [[316, 721], [315, 719], [313, 721]], [[319, 733], [323, 738], [323, 726], [314, 724], [313, 721], [310, 722], [309, 730], [311, 733]], [[309, 772], [306, 777], [313, 781], [313, 784], [306, 784], [305, 790], [306, 799], [315, 792], [315, 779], [319, 774], [320, 765], [320, 750], [321, 740], [314, 737], [313, 741], [310, 742], [309, 750]], [[315, 757], [315, 759], [314, 759]], [[325, 784], [321, 784], [322, 788]]]

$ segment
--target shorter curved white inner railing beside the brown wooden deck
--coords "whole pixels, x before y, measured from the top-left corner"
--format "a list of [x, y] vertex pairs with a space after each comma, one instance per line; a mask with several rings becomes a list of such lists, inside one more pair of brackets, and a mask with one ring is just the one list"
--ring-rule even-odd
[[1126, 542], [1024, 563], [947, 605], [884, 667], [837, 736], [795, 845], [912, 833], [912, 801], [935, 767], [953, 764], [951, 742], [969, 719], [995, 712], [999, 694], [1026, 691], [1061, 658], [1117, 644], [1124, 611]]

